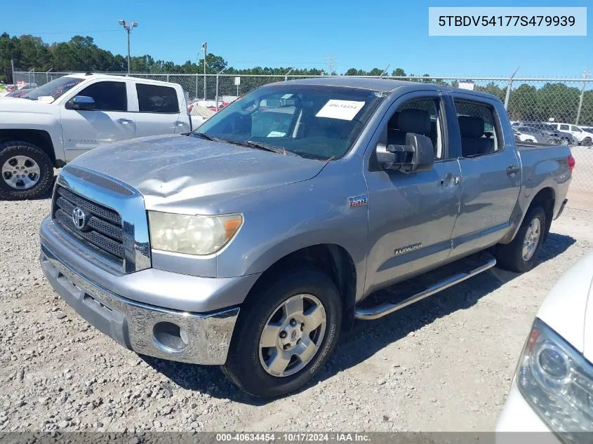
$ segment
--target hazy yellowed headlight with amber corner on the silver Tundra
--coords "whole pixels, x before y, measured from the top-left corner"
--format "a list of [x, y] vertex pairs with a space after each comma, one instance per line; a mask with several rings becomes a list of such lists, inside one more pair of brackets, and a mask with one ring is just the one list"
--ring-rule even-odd
[[151, 248], [156, 250], [210, 255], [222, 248], [239, 231], [243, 217], [178, 215], [148, 212]]

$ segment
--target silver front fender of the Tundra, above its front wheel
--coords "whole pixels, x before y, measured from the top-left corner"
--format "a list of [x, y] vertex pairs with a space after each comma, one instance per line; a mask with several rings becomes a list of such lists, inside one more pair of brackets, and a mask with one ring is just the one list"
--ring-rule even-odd
[[352, 257], [357, 297], [362, 295], [368, 212], [366, 205], [351, 208], [348, 203], [349, 197], [366, 196], [357, 160], [332, 161], [311, 180], [243, 196], [244, 225], [218, 256], [218, 276], [261, 273], [301, 248], [335, 244]]

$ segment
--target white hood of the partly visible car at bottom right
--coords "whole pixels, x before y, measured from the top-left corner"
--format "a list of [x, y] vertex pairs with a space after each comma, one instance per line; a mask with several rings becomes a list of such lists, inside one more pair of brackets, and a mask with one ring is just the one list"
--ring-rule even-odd
[[559, 279], [545, 298], [538, 318], [593, 362], [593, 253]]

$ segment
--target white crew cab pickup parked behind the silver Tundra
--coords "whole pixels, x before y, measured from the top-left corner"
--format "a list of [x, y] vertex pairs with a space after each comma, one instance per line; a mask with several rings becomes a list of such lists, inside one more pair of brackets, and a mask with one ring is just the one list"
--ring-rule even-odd
[[53, 185], [53, 168], [100, 144], [181, 134], [202, 119], [187, 112], [177, 83], [69, 74], [22, 98], [0, 98], [0, 199], [32, 199]]

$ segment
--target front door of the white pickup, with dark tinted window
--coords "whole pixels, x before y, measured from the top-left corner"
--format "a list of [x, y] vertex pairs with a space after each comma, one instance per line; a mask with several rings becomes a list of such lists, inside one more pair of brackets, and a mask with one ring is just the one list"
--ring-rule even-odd
[[62, 137], [66, 160], [100, 144], [135, 137], [134, 114], [128, 112], [126, 81], [96, 81], [77, 95], [93, 97], [94, 109], [69, 109], [62, 105]]

